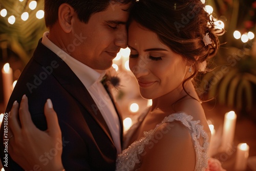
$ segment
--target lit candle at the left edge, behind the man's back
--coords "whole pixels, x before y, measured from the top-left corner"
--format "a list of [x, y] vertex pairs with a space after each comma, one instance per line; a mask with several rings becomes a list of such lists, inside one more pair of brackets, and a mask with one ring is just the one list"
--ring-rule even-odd
[[2, 75], [3, 75], [4, 103], [6, 107], [13, 89], [12, 69], [10, 68], [9, 63], [6, 63], [4, 65], [4, 68], [2, 69]]

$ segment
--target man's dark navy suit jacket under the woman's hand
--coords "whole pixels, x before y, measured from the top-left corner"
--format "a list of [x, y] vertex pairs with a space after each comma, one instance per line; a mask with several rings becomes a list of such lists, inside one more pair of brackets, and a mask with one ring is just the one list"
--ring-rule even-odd
[[[47, 129], [44, 105], [48, 98], [52, 100], [62, 133], [62, 163], [67, 171], [115, 170], [117, 151], [94, 100], [68, 65], [42, 45], [41, 40], [16, 83], [6, 112], [11, 110], [15, 100], [20, 102], [24, 94], [29, 100], [32, 120], [40, 130]], [[120, 116], [119, 120], [122, 128]], [[3, 126], [0, 146], [5, 165]], [[120, 137], [122, 139], [122, 131]], [[48, 153], [54, 155], [54, 150]], [[42, 154], [40, 161], [47, 163], [50, 158]], [[23, 169], [9, 157], [5, 170]]]

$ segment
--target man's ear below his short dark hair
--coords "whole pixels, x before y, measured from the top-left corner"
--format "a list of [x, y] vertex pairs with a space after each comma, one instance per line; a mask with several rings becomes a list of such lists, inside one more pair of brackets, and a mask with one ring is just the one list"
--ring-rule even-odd
[[66, 33], [72, 30], [72, 19], [75, 17], [74, 9], [67, 3], [61, 4], [58, 10], [58, 22]]

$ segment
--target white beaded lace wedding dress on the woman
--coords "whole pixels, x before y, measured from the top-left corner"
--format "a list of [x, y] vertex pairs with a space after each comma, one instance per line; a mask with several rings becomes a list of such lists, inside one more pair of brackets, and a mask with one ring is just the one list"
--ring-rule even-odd
[[[143, 113], [138, 118], [138, 123], [134, 124], [131, 127], [129, 132], [126, 134], [128, 139], [133, 134], [133, 132], [136, 131], [138, 125], [144, 119], [146, 114], [147, 112]], [[192, 116], [187, 115], [184, 112], [178, 112], [178, 113], [174, 113], [169, 116], [166, 116], [161, 123], [156, 125], [154, 130], [144, 132], [144, 137], [142, 137], [138, 141], [133, 142], [128, 148], [124, 149], [120, 155], [118, 155], [117, 161], [116, 161], [116, 170], [131, 171], [135, 169], [135, 166], [136, 166], [136, 170], [139, 170], [138, 169], [138, 164], [140, 163], [139, 155], [143, 153], [145, 145], [150, 143], [150, 140], [152, 139], [152, 137], [154, 137], [154, 134], [157, 128], [161, 124], [167, 123], [167, 122], [173, 122], [173, 121], [180, 121], [183, 125], [185, 125], [189, 129], [191, 133], [191, 138], [194, 141], [195, 152], [197, 155], [195, 170], [196, 171], [205, 170], [205, 168], [207, 167], [207, 159], [208, 159], [207, 157], [207, 152], [209, 147], [208, 135], [203, 130], [203, 126], [199, 124], [200, 121], [194, 121], [192, 119], [193, 119]], [[200, 140], [203, 140], [202, 145], [200, 144]]]

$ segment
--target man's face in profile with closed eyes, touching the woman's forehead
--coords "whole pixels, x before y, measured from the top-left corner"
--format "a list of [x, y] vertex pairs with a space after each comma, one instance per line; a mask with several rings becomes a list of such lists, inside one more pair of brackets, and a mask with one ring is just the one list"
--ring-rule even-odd
[[82, 38], [71, 56], [96, 70], [110, 68], [120, 48], [127, 46], [125, 24], [129, 12], [124, 10], [129, 6], [110, 4], [105, 11], [91, 15], [87, 24], [75, 17], [72, 34]]

